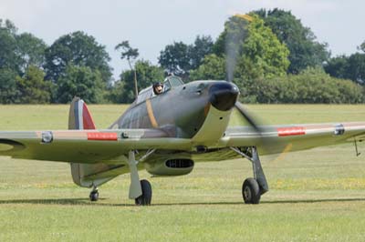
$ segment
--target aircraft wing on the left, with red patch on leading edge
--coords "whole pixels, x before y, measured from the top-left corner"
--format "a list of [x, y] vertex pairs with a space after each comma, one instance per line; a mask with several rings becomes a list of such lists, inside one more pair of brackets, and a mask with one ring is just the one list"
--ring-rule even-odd
[[115, 164], [134, 149], [189, 147], [189, 139], [169, 137], [160, 129], [0, 132], [0, 156], [83, 164]]

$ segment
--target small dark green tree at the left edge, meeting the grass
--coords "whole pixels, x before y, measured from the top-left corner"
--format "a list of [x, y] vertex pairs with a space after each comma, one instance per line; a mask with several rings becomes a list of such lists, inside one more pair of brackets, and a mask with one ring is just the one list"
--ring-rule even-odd
[[0, 68], [0, 103], [12, 104], [17, 102], [16, 72], [10, 68]]

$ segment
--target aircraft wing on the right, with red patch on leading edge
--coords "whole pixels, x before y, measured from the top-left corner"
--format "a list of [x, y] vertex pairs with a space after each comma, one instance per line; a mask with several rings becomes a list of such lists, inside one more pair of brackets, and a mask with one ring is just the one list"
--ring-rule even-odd
[[365, 123], [308, 124], [287, 126], [260, 126], [261, 133], [253, 128], [229, 127], [223, 146], [257, 146], [260, 154], [269, 155], [288, 151], [330, 146], [365, 138]]

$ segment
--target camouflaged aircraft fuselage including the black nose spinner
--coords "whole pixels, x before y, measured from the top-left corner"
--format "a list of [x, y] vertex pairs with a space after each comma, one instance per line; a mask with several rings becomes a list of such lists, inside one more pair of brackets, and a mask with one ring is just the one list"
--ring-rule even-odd
[[[169, 85], [167, 81], [165, 86]], [[212, 123], [211, 131], [214, 132], [215, 128], [222, 130], [217, 127], [221, 124], [225, 129], [228, 122], [223, 119], [229, 118], [238, 93], [234, 84], [225, 81], [181, 83], [158, 96], [153, 95], [149, 87], [141, 91], [128, 110], [110, 127], [160, 128], [168, 136], [193, 138], [199, 131], [202, 132], [207, 117], [213, 113], [219, 123]]]

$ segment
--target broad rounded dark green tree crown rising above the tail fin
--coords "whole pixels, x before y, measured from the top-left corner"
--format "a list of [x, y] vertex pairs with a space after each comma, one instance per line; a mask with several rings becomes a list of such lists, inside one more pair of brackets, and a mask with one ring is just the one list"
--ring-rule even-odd
[[104, 45], [99, 45], [93, 36], [78, 31], [59, 37], [47, 48], [45, 69], [47, 78], [57, 83], [69, 64], [89, 67], [99, 71], [102, 81], [108, 83], [111, 77], [109, 61], [110, 55]]

